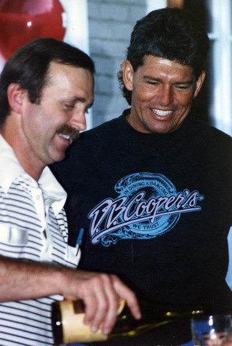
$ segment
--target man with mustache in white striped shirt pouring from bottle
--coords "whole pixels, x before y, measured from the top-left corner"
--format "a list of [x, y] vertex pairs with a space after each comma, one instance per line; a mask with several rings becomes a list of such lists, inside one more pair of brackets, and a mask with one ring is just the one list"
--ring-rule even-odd
[[0, 343], [53, 345], [51, 304], [84, 300], [85, 323], [108, 334], [119, 298], [140, 317], [115, 275], [75, 270], [66, 192], [47, 165], [64, 158], [86, 127], [94, 64], [69, 44], [35, 39], [6, 62], [0, 79]]

